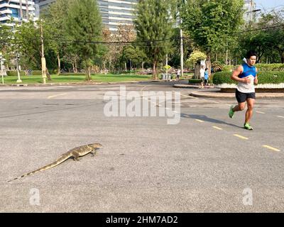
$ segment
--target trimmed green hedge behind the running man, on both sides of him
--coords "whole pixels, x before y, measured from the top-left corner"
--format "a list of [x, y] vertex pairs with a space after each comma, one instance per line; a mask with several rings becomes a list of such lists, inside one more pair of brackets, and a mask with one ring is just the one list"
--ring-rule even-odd
[[[258, 72], [258, 84], [281, 84], [284, 83], [284, 72]], [[213, 75], [213, 84], [237, 84], [231, 79], [231, 72], [216, 72]]]

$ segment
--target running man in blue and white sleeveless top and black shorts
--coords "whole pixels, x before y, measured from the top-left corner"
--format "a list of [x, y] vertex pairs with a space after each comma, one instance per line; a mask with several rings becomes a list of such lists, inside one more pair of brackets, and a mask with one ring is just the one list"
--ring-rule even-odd
[[234, 113], [237, 111], [244, 111], [247, 104], [248, 109], [246, 111], [246, 120], [244, 122], [244, 128], [247, 130], [253, 130], [253, 127], [251, 127], [249, 122], [253, 116], [253, 106], [256, 101], [254, 85], [258, 84], [257, 69], [254, 66], [256, 64], [256, 57], [256, 52], [249, 51], [246, 54], [246, 62], [244, 62], [243, 65], [239, 65], [231, 75], [231, 79], [239, 82], [236, 87], [236, 100], [239, 104], [231, 106], [229, 117], [233, 118]]

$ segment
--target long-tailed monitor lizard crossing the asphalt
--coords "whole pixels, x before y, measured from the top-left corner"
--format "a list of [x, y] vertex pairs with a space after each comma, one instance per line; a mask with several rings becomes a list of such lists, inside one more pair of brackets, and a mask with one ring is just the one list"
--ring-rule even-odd
[[[82, 146], [77, 147], [77, 148], [73, 148], [72, 150], [69, 150], [67, 153], [58, 157], [58, 160], [51, 163], [50, 165], [45, 165], [44, 167], [41, 167], [38, 170], [34, 170], [33, 172], [28, 172], [28, 173], [22, 175], [21, 177], [16, 177], [15, 179], [20, 179], [20, 178], [23, 178], [23, 177], [26, 177], [26, 176], [33, 175], [36, 172], [48, 170], [52, 167], [60, 165], [60, 163], [64, 162], [65, 160], [67, 160], [70, 157], [73, 157], [73, 160], [75, 160], [75, 161], [79, 161], [79, 157], [87, 155], [88, 153], [92, 153], [92, 155], [94, 156], [97, 152], [97, 149], [99, 149], [99, 148], [102, 148], [102, 144], [100, 144], [100, 143], [92, 143], [92, 144], [88, 144], [88, 145], [82, 145]], [[15, 179], [10, 179], [8, 182], [11, 182]]]

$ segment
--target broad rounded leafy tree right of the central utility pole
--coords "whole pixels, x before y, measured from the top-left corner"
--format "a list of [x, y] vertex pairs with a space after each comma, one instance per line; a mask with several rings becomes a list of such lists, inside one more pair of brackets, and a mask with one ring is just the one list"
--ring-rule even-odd
[[207, 53], [211, 72], [211, 54], [226, 45], [228, 38], [243, 22], [243, 0], [188, 0], [182, 7], [182, 27], [198, 48]]

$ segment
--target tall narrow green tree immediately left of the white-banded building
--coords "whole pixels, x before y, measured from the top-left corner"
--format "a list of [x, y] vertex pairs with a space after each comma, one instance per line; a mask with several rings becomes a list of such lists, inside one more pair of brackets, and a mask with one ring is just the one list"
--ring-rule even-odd
[[102, 18], [95, 0], [74, 0], [67, 12], [66, 31], [73, 45], [84, 61], [86, 79], [91, 80], [92, 60], [99, 52], [98, 44], [102, 40]]

